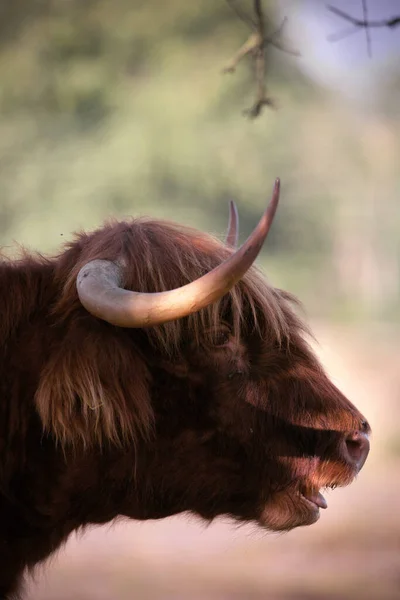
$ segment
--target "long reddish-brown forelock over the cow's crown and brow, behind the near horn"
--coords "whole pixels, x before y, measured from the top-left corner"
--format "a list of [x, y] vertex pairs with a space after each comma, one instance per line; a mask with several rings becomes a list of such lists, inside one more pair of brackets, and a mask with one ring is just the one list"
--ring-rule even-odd
[[[217, 238], [167, 221], [136, 219], [131, 223], [109, 223], [90, 236], [80, 234], [66, 254], [73, 257], [64, 292], [56, 307], [67, 315], [77, 302], [75, 282], [79, 269], [89, 260], [103, 258], [124, 265], [125, 287], [140, 292], [161, 292], [181, 287], [221, 264], [234, 252]], [[65, 276], [65, 268], [61, 269]], [[253, 266], [228, 294], [214, 304], [186, 317], [147, 330], [152, 344], [168, 355], [182, 348], [190, 335], [196, 343], [204, 336], [213, 341], [221, 321], [229, 313], [232, 333], [263, 329], [276, 340], [288, 338], [304, 325], [291, 305], [297, 300], [269, 285]]]

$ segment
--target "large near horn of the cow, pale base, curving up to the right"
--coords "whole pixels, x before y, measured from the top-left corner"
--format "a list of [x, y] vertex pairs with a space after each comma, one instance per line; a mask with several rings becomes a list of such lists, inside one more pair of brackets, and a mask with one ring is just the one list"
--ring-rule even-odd
[[253, 233], [223, 263], [180, 288], [158, 293], [125, 290], [122, 270], [109, 260], [93, 260], [78, 273], [81, 303], [92, 315], [118, 327], [150, 327], [186, 317], [216, 302], [243, 277], [260, 252], [279, 201], [275, 180], [271, 201]]

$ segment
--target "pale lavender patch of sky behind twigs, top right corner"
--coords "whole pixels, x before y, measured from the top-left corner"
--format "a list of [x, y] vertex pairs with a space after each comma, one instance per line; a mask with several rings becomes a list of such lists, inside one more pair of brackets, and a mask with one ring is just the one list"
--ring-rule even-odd
[[[281, 0], [276, 3], [280, 17], [288, 18], [286, 35], [299, 50], [299, 67], [321, 85], [362, 101], [379, 101], [386, 85], [400, 75], [400, 25], [370, 29], [372, 58], [368, 56], [364, 29], [355, 30], [337, 42], [329, 35], [351, 30], [352, 26], [333, 14], [335, 6], [355, 18], [363, 18], [361, 0]], [[400, 15], [400, 0], [367, 0], [368, 19], [381, 20]]]

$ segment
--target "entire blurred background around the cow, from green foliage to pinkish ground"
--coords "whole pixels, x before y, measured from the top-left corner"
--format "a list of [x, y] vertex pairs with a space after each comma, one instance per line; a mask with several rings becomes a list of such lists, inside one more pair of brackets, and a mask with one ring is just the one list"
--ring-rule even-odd
[[[361, 0], [332, 4], [363, 18]], [[2, 0], [0, 244], [53, 253], [143, 214], [222, 236], [230, 199], [243, 241], [280, 176], [259, 263], [303, 302], [373, 427], [370, 458], [310, 528], [112, 524], [73, 537], [29, 600], [400, 598], [400, 25], [371, 29], [370, 57], [365, 29], [325, 2], [264, 9], [300, 56], [267, 47], [276, 108], [249, 120], [251, 63], [222, 74], [249, 29], [225, 0]], [[368, 11], [388, 19], [400, 2]]]

